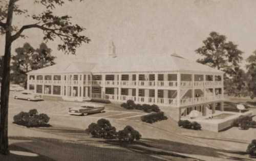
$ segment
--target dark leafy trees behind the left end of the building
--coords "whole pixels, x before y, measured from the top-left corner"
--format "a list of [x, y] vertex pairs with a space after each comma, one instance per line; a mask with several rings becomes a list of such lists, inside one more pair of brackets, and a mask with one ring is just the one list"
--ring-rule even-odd
[[55, 57], [51, 56], [51, 49], [45, 43], [34, 49], [29, 43], [15, 49], [12, 56], [11, 81], [15, 84], [23, 83], [27, 87], [27, 72], [54, 65]]

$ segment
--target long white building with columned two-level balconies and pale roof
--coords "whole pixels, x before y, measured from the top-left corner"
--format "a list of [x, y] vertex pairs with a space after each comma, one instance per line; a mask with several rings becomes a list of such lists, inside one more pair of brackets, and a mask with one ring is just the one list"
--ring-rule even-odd
[[97, 63], [54, 65], [28, 74], [35, 93], [65, 100], [88, 98], [157, 104], [171, 109], [175, 119], [206, 105], [223, 111], [223, 72], [182, 58], [169, 56], [109, 57]]

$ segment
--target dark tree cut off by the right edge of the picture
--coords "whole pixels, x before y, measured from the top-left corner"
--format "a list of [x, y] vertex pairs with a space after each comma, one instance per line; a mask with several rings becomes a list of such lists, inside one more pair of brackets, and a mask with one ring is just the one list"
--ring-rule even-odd
[[256, 50], [250, 55], [246, 62], [247, 74], [248, 74], [248, 90], [250, 92], [251, 99], [256, 96]]

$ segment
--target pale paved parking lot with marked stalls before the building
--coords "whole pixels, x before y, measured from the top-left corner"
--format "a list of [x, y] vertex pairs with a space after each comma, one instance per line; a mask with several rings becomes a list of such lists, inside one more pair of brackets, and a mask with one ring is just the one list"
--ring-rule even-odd
[[139, 121], [140, 117], [146, 115], [146, 113], [120, 109], [115, 106], [112, 108], [111, 104], [105, 105], [104, 113], [90, 114], [87, 116], [71, 116], [68, 115], [69, 108], [74, 106], [81, 106], [83, 102], [68, 102], [68, 101], [54, 101], [54, 100], [43, 100], [43, 101], [27, 101], [22, 99], [14, 99], [14, 92], [10, 93], [10, 107], [9, 114], [14, 116], [20, 111], [29, 111], [31, 109], [37, 109], [39, 113], [45, 113], [49, 116], [58, 117], [69, 117], [69, 118], [105, 118], [114, 120], [134, 120]]

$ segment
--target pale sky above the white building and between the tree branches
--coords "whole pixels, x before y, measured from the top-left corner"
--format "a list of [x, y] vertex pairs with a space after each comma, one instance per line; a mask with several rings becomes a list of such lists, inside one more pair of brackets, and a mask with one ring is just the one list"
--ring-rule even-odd
[[[22, 8], [39, 13], [44, 8], [20, 1]], [[1, 2], [0, 2], [1, 3]], [[83, 32], [92, 41], [77, 49], [75, 56], [57, 50], [59, 40], [49, 42], [57, 62], [89, 60], [108, 54], [111, 41], [118, 57], [133, 55], [170, 55], [177, 53], [196, 61], [195, 50], [211, 31], [238, 44], [246, 59], [256, 50], [256, 1], [254, 0], [84, 0], [56, 8], [58, 15], [71, 15], [72, 22], [87, 30]], [[30, 19], [14, 16], [19, 26]], [[27, 39], [18, 39], [15, 48], [29, 42], [35, 48], [42, 42], [40, 30], [25, 32]], [[0, 51], [4, 53], [4, 37], [0, 37]], [[242, 65], [244, 65], [243, 62]]]

